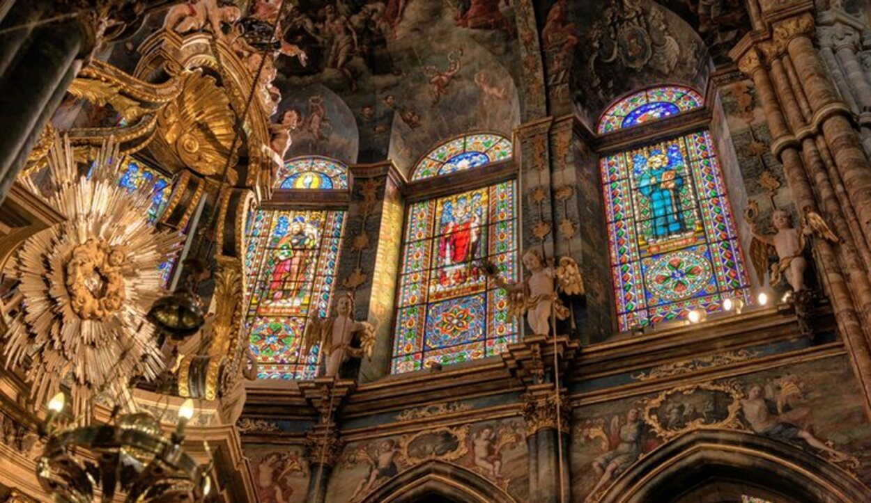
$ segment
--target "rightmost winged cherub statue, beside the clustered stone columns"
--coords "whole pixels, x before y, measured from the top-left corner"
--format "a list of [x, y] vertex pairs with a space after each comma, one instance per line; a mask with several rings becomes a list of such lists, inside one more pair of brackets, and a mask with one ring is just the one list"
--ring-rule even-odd
[[817, 236], [837, 242], [838, 238], [828, 228], [826, 222], [814, 211], [805, 211], [806, 225], [801, 229], [793, 227], [793, 218], [787, 211], [775, 210], [772, 215], [773, 234], [760, 234], [755, 226], [751, 230], [753, 242], [750, 245], [750, 257], [753, 267], [762, 280], [768, 266], [768, 257], [772, 252], [777, 254], [778, 261], [769, 269], [770, 284], [778, 285], [781, 278], [786, 277], [787, 283], [794, 292], [801, 292], [805, 285], [807, 258], [804, 257], [808, 236]]

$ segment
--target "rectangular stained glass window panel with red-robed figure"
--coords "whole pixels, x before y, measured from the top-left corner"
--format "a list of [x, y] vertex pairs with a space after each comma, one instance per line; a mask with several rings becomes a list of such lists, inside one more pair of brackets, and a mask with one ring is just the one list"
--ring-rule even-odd
[[517, 280], [515, 182], [411, 205], [402, 245], [393, 373], [502, 352], [517, 341], [508, 301], [480, 269]]

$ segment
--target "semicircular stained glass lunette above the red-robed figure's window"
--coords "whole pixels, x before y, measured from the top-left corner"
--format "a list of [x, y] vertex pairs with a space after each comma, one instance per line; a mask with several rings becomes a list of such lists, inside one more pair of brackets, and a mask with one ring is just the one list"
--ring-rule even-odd
[[449, 175], [511, 157], [511, 142], [494, 134], [474, 134], [443, 143], [415, 166], [412, 180]]

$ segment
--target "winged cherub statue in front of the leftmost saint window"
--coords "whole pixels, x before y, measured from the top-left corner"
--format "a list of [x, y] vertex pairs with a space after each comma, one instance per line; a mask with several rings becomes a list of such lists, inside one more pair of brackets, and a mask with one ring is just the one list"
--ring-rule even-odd
[[[354, 321], [354, 296], [342, 294], [335, 305], [335, 316], [330, 319], [313, 319], [306, 327], [302, 340], [302, 354], [307, 355], [315, 343], [320, 342], [321, 354], [327, 358], [327, 370], [323, 377], [334, 378], [341, 364], [348, 357], [372, 356], [375, 346], [375, 327], [366, 321]], [[359, 348], [351, 347], [354, 333], [361, 333]]]

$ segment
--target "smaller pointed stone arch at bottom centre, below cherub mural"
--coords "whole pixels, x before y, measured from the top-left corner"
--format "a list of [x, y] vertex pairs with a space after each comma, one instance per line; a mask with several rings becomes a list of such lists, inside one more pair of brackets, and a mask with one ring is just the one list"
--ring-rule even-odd
[[517, 503], [490, 480], [463, 466], [426, 461], [388, 480], [361, 503], [410, 503], [437, 494], [460, 503]]

